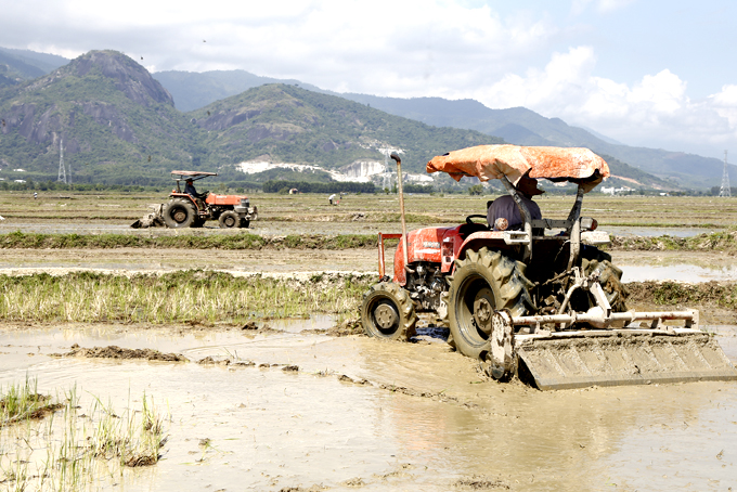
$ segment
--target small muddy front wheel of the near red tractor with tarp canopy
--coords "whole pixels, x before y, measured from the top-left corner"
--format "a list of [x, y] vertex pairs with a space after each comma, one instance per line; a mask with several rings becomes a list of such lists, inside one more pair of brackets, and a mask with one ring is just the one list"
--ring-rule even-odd
[[382, 282], [363, 296], [361, 323], [370, 337], [409, 340], [415, 336], [417, 314], [406, 290], [393, 282]]

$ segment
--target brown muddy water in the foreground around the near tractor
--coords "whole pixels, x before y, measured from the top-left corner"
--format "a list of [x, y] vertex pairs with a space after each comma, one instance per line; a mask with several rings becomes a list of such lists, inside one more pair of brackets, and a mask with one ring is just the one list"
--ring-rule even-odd
[[[701, 491], [737, 481], [737, 384], [540, 392], [484, 381], [473, 361], [429, 337], [398, 344], [300, 333], [329, 324], [272, 324], [277, 331], [263, 335], [3, 329], [0, 385], [29, 374], [51, 393], [77, 385], [82, 400], [94, 394], [125, 407], [129, 394], [135, 401], [145, 391], [168, 407], [164, 459], [117, 485], [103, 481], [103, 490], [447, 491], [486, 482], [520, 491]], [[737, 361], [737, 327], [712, 329]], [[48, 355], [75, 342], [255, 365]]]

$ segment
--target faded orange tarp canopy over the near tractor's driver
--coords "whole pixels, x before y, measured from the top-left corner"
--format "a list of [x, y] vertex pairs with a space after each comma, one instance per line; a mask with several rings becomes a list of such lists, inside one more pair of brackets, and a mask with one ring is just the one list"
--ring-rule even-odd
[[481, 181], [500, 179], [513, 183], [530, 171], [530, 178], [572, 181], [586, 192], [609, 176], [607, 163], [589, 148], [522, 147], [518, 145], [479, 145], [434, 157], [427, 172], [448, 172], [455, 181], [464, 176]]

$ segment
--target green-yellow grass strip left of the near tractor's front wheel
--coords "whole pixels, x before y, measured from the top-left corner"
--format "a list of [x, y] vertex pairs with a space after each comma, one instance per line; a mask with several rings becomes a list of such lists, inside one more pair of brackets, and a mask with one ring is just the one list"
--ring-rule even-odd
[[0, 318], [35, 322], [232, 323], [355, 312], [374, 275], [309, 282], [179, 271], [130, 277], [78, 272], [0, 275]]

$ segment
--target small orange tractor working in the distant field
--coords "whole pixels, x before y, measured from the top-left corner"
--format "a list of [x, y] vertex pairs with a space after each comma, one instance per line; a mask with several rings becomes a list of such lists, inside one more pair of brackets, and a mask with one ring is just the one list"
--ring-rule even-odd
[[248, 228], [258, 218], [258, 208], [251, 207], [245, 195], [218, 195], [210, 192], [192, 196], [182, 192], [182, 181], [197, 181], [217, 172], [171, 171], [177, 189], [171, 191], [169, 203], [154, 205], [154, 211], [137, 220], [131, 228], [166, 225], [170, 229], [202, 228], [207, 220], [217, 220], [221, 229]]

